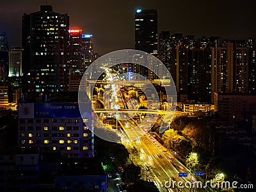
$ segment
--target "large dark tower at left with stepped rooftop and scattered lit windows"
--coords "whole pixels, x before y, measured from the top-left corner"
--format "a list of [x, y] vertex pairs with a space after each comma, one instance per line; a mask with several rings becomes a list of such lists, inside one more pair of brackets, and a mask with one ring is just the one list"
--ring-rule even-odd
[[69, 17], [41, 5], [22, 17], [22, 86], [30, 99], [54, 98], [68, 90]]

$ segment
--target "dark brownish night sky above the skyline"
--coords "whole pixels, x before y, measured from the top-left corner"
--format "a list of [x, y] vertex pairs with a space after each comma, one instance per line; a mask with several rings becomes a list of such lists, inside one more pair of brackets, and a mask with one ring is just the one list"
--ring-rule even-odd
[[[243, 3], [243, 4], [242, 4]], [[9, 0], [0, 3], [0, 32], [9, 46], [21, 45], [21, 17], [40, 10], [45, 0]], [[68, 13], [70, 28], [93, 35], [95, 52], [134, 49], [134, 13], [137, 8], [156, 9], [158, 31], [184, 35], [220, 36], [244, 40], [256, 36], [255, 0], [48, 0], [53, 11]]]

